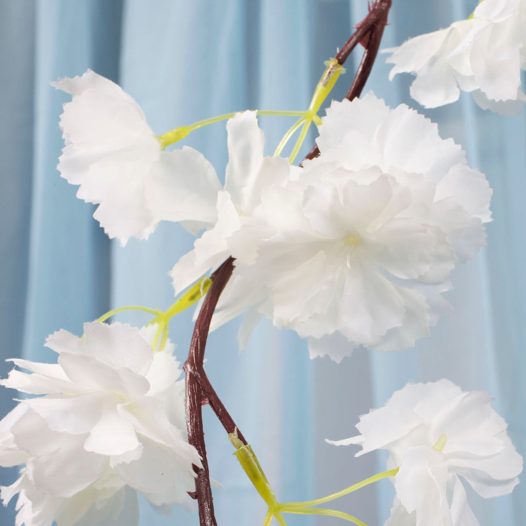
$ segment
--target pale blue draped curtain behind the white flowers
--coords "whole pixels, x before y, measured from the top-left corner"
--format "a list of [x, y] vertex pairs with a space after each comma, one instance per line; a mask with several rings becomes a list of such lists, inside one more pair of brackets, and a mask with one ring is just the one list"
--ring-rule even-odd
[[[382, 47], [465, 18], [477, 0], [393, 0]], [[0, 0], [0, 356], [53, 360], [45, 337], [59, 328], [77, 334], [82, 323], [111, 307], [143, 304], [166, 308], [173, 301], [167, 271], [192, 238], [163, 224], [148, 242], [125, 249], [110, 243], [91, 217], [93, 207], [75, 199], [76, 188], [55, 169], [63, 146], [58, 129], [63, 93], [49, 80], [86, 68], [123, 85], [143, 107], [156, 133], [245, 108], [303, 109], [323, 70], [366, 13], [365, 0]], [[335, 90], [345, 94], [356, 61]], [[387, 103], [417, 107], [409, 76], [389, 83], [380, 56], [366, 90]], [[432, 338], [402, 353], [357, 353], [340, 365], [310, 361], [304, 341], [268, 322], [238, 355], [232, 322], [210, 337], [207, 370], [220, 396], [258, 452], [282, 501], [336, 491], [382, 471], [382, 459], [353, 459], [352, 448], [333, 448], [323, 438], [355, 434], [358, 414], [382, 405], [407, 380], [450, 378], [463, 389], [488, 390], [509, 422], [509, 433], [526, 453], [526, 126], [524, 115], [483, 112], [469, 96], [426, 112], [467, 150], [472, 166], [494, 189], [495, 221], [488, 246], [454, 272], [448, 294], [455, 312]], [[269, 152], [289, 122], [261, 119]], [[199, 148], [219, 174], [226, 164], [224, 125], [202, 129], [185, 141]], [[310, 137], [312, 144], [313, 137]], [[124, 318], [123, 318], [124, 319]], [[146, 318], [129, 316], [133, 323]], [[182, 315], [171, 337], [184, 357], [190, 319]], [[9, 367], [0, 363], [0, 375]], [[0, 392], [5, 414], [16, 393]], [[206, 414], [219, 524], [262, 523], [255, 495], [217, 422]], [[15, 470], [3, 470], [2, 484]], [[382, 524], [391, 505], [389, 482], [337, 503], [370, 524]], [[509, 497], [483, 501], [472, 495], [482, 526], [521, 524], [526, 487]], [[0, 523], [14, 523], [13, 504]], [[147, 504], [141, 526], [155, 514]], [[290, 524], [329, 524], [308, 518]], [[158, 524], [197, 524], [178, 512]]]

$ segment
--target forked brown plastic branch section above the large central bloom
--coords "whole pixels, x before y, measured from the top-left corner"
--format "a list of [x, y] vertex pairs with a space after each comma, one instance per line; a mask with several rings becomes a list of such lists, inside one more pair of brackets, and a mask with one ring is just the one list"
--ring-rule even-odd
[[[338, 63], [343, 65], [350, 55], [352, 50], [360, 43], [365, 43], [365, 50], [352, 81], [351, 87], [346, 95], [346, 99], [352, 100], [359, 97], [363, 86], [365, 86], [369, 74], [371, 73], [372, 65], [375, 62], [380, 47], [380, 41], [383, 35], [383, 28], [387, 25], [387, 16], [391, 8], [392, 0], [377, 0], [372, 7], [369, 8], [369, 14], [355, 26], [356, 31], [351, 35], [349, 40], [343, 45], [336, 55]], [[305, 159], [314, 159], [320, 155], [318, 145], [315, 145]]]

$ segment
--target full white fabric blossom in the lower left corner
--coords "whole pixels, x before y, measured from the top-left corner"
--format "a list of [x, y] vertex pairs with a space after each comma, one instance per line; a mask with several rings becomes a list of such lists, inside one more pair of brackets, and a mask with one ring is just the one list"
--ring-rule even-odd
[[199, 454], [187, 441], [184, 381], [173, 344], [155, 352], [150, 328], [85, 323], [46, 346], [58, 363], [13, 359], [0, 383], [30, 395], [0, 421], [0, 465], [25, 463], [2, 488], [18, 493], [16, 526], [133, 526], [137, 493], [161, 513], [187, 507]]

